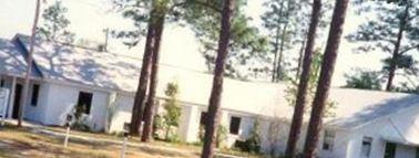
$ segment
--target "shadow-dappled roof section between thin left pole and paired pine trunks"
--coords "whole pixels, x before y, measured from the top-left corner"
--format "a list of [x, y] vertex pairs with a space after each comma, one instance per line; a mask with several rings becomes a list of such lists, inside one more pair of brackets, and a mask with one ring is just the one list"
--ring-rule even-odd
[[[14, 38], [29, 50], [29, 38]], [[134, 92], [140, 63], [136, 59], [37, 40], [33, 60], [43, 77], [110, 89]]]

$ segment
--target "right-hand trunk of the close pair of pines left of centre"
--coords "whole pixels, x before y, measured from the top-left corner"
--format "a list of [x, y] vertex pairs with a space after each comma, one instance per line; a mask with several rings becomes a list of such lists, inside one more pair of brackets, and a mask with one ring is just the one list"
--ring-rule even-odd
[[144, 127], [141, 137], [141, 141], [149, 141], [153, 130], [153, 118], [154, 118], [154, 103], [155, 103], [155, 93], [159, 82], [159, 55], [160, 55], [160, 44], [164, 29], [164, 18], [165, 14], [159, 15], [156, 20], [155, 28], [155, 46], [153, 50], [153, 60], [152, 60], [152, 72], [150, 78], [150, 89], [147, 102], [145, 103], [144, 109]]

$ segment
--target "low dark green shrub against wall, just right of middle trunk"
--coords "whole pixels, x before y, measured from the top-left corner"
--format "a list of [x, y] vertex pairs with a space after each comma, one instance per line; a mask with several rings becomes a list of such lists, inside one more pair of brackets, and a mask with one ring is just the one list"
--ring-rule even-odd
[[242, 151], [251, 154], [259, 154], [260, 151], [260, 131], [259, 131], [259, 119], [256, 118], [253, 125], [251, 136], [245, 141], [236, 141], [236, 147]]

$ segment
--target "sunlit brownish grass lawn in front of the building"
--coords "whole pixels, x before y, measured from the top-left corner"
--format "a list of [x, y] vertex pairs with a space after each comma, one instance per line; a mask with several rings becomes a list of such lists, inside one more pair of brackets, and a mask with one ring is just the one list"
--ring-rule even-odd
[[[104, 137], [104, 136], [103, 136]], [[116, 139], [116, 138], [115, 138]], [[63, 138], [29, 131], [27, 128], [7, 126], [0, 129], [0, 157], [30, 158], [117, 158], [121, 146], [106, 143], [92, 143], [71, 139], [69, 147], [63, 147]], [[127, 158], [192, 158], [194, 152], [176, 152], [150, 147], [129, 147]]]

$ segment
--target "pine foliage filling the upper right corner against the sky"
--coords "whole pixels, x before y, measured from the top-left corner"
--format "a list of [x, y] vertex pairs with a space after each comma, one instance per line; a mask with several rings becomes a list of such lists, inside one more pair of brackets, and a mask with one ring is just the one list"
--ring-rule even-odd
[[[413, 54], [419, 51], [419, 28], [417, 0], [388, 0], [388, 1], [355, 1], [359, 13], [369, 12], [374, 19], [358, 27], [358, 30], [346, 39], [360, 43], [356, 52], [384, 52], [388, 57], [384, 59], [382, 74], [388, 76], [390, 66], [396, 70], [410, 71], [415, 69]], [[399, 33], [400, 46], [396, 50]], [[398, 76], [410, 77], [407, 73], [398, 73]]]

